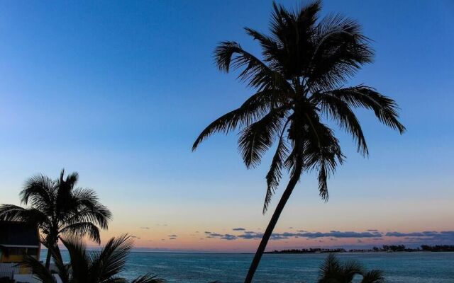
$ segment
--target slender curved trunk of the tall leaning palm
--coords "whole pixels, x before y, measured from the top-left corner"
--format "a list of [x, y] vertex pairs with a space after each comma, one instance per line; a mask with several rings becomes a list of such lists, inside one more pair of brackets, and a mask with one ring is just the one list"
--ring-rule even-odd
[[284, 210], [285, 204], [287, 200], [289, 200], [290, 195], [292, 195], [294, 187], [297, 185], [299, 176], [301, 175], [302, 166], [301, 164], [297, 164], [295, 166], [295, 171], [292, 174], [292, 178], [290, 178], [287, 187], [284, 190], [284, 194], [282, 194], [281, 200], [277, 204], [275, 212], [272, 214], [270, 219], [270, 223], [263, 234], [262, 241], [260, 241], [260, 245], [258, 246], [257, 252], [255, 252], [253, 262], [250, 264], [248, 275], [246, 275], [246, 279], [244, 280], [245, 283], [250, 283], [253, 281], [253, 277], [255, 274], [255, 270], [257, 270], [258, 264], [260, 259], [262, 258], [263, 252], [265, 252], [265, 248], [267, 246], [268, 240], [270, 240], [270, 236], [272, 231], [275, 229], [277, 224], [277, 220], [279, 220], [279, 216], [281, 215], [282, 210]]

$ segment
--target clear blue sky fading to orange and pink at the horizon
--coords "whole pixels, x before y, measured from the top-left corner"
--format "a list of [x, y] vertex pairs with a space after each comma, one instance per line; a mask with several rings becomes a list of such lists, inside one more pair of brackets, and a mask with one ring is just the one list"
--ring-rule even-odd
[[[294, 8], [301, 1], [278, 1]], [[262, 165], [247, 170], [236, 133], [191, 151], [206, 125], [253, 90], [212, 52], [267, 32], [272, 1], [0, 1], [0, 203], [37, 173], [79, 173], [122, 233], [150, 250], [253, 251], [282, 193], [262, 214]], [[345, 164], [319, 198], [303, 175], [268, 249], [454, 244], [454, 2], [323, 1], [357, 19], [375, 62], [349, 85], [394, 98], [402, 136], [358, 111], [370, 156], [338, 132]], [[285, 181], [285, 180], [284, 180]]]

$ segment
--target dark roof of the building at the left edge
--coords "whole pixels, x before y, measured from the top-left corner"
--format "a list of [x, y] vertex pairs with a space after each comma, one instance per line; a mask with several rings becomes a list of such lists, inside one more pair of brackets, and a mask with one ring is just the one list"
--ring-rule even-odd
[[0, 221], [0, 245], [40, 246], [38, 228], [23, 222]]

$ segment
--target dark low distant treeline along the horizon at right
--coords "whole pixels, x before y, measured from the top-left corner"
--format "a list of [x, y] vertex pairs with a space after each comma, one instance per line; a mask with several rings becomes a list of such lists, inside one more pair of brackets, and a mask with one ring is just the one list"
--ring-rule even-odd
[[[454, 252], [454, 246], [436, 245], [428, 246], [422, 245], [419, 248], [407, 248], [405, 245], [383, 245], [381, 248], [373, 247], [372, 249], [351, 249], [350, 253], [355, 252], [417, 252], [417, 251], [430, 251], [430, 252]], [[266, 253], [345, 253], [345, 248], [302, 248], [292, 250], [273, 250]]]

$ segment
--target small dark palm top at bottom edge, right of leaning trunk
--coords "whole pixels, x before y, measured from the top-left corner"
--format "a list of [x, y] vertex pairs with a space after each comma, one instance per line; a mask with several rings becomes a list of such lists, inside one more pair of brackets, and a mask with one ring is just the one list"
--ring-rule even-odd
[[355, 275], [360, 275], [360, 283], [383, 282], [381, 270], [370, 270], [366, 272], [359, 262], [350, 261], [341, 263], [335, 255], [328, 255], [319, 271], [319, 283], [351, 283]]

